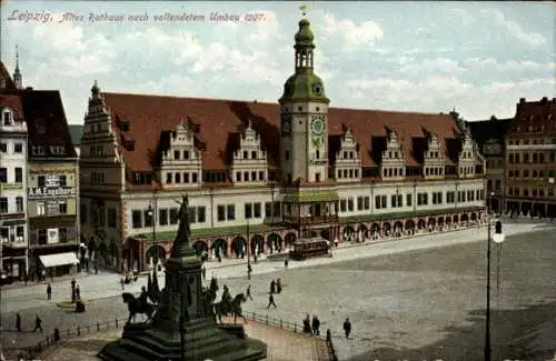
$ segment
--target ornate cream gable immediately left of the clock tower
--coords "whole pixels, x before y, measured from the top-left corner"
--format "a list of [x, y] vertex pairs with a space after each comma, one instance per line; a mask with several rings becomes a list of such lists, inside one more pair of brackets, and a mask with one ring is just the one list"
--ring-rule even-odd
[[234, 151], [231, 179], [235, 183], [260, 183], [268, 180], [267, 152], [262, 150], [260, 137], [250, 120], [241, 132], [239, 148]]

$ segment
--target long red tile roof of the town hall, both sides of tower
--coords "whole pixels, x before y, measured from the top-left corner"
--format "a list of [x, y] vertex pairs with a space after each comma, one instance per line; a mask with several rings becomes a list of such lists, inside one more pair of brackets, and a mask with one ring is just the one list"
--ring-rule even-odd
[[[102, 93], [102, 97], [111, 112], [112, 127], [119, 134], [118, 141], [126, 166], [133, 171], [153, 169], [153, 159], [158, 157], [153, 158], [152, 154], [157, 153], [163, 132], [175, 130], [182, 120], [189, 120], [199, 128], [196, 139], [205, 147], [202, 167], [206, 170], [224, 170], [228, 167], [229, 144], [235, 142], [232, 134], [242, 131], [249, 120], [261, 137], [269, 164], [279, 164], [278, 103], [110, 92]], [[426, 133], [438, 137], [448, 163], [457, 159], [457, 154], [453, 154], [453, 147], [448, 147], [448, 142], [455, 141], [459, 133], [457, 122], [450, 114], [329, 108], [328, 119], [329, 137], [341, 134], [342, 126], [351, 127], [361, 149], [363, 167], [376, 166], [371, 139], [386, 137], [388, 129], [397, 132], [407, 166], [418, 164], [419, 157], [415, 153], [414, 140], [425, 138]], [[129, 129], [121, 131], [119, 122], [128, 122]], [[122, 147], [122, 139], [135, 140], [133, 150]]]

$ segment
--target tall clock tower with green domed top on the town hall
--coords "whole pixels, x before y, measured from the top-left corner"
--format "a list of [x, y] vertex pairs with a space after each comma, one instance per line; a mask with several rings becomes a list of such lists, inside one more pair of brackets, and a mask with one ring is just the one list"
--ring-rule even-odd
[[295, 36], [295, 73], [284, 84], [280, 163], [288, 182], [328, 179], [328, 103], [322, 80], [314, 72], [315, 36], [307, 19]]

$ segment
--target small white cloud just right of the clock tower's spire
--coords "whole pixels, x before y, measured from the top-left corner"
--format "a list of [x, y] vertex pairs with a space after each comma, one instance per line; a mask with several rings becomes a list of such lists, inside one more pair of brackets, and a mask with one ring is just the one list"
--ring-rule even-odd
[[324, 17], [324, 30], [328, 34], [339, 34], [348, 46], [373, 46], [384, 37], [383, 29], [373, 20], [359, 24], [347, 19], [337, 19], [331, 13]]

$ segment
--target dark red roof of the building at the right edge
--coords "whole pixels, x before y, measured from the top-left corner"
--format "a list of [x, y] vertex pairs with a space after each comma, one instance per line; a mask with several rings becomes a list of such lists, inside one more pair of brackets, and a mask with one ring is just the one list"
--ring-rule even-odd
[[556, 133], [556, 98], [539, 101], [519, 99], [508, 136]]

